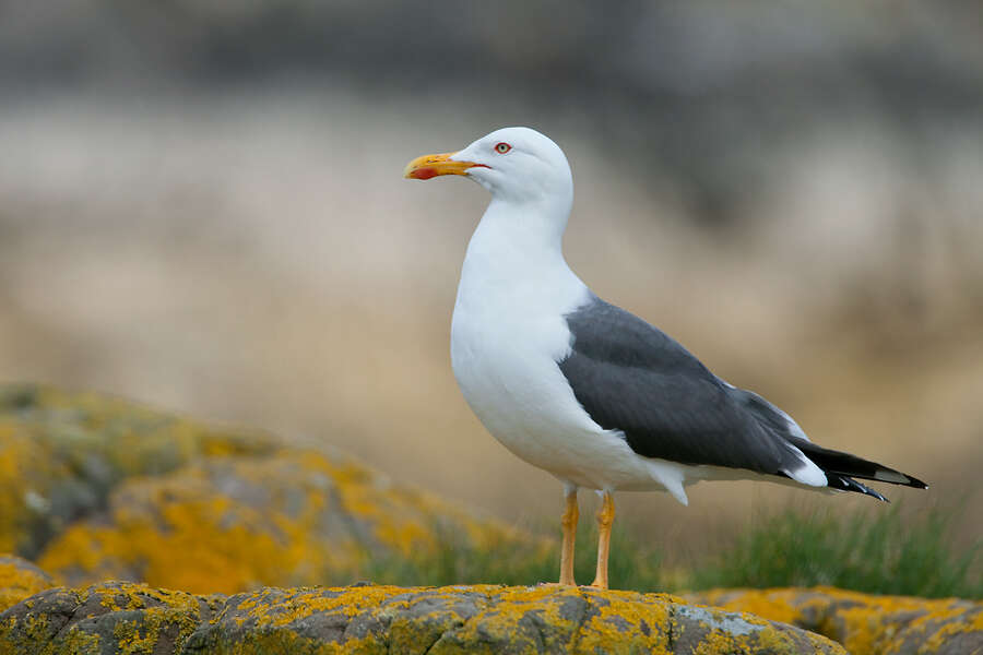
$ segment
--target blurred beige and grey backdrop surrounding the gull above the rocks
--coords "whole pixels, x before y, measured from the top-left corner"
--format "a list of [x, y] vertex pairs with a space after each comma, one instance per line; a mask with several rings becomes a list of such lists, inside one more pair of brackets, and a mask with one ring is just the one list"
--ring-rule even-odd
[[[401, 179], [509, 124], [567, 152], [566, 253], [599, 295], [814, 440], [929, 481], [881, 490], [980, 537], [974, 0], [5, 0], [0, 380], [335, 444], [557, 529], [559, 485], [450, 370], [487, 194]], [[814, 498], [624, 496], [671, 558]]]

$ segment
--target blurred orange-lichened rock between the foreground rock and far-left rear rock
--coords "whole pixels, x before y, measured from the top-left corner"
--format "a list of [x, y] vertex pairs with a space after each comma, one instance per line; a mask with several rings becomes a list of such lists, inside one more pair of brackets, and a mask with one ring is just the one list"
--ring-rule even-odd
[[235, 593], [348, 582], [372, 558], [436, 550], [448, 531], [494, 547], [531, 539], [340, 457], [283, 451], [128, 480], [106, 514], [70, 526], [38, 563], [72, 585], [122, 579]]

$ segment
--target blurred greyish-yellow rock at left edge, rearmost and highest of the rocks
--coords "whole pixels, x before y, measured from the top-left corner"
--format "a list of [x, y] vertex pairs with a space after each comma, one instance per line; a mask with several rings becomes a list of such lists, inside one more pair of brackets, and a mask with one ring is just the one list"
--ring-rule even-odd
[[0, 552], [34, 558], [71, 522], [102, 510], [122, 479], [201, 456], [261, 456], [269, 436], [200, 424], [92, 393], [0, 385]]

